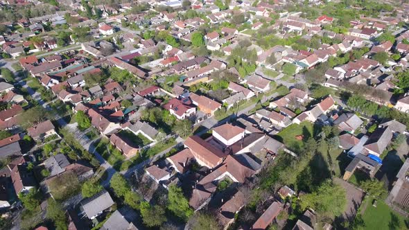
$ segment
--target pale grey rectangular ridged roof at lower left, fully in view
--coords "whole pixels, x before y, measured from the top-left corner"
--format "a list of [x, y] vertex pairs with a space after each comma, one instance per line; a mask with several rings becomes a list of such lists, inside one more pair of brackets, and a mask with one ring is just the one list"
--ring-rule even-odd
[[105, 209], [110, 208], [114, 204], [110, 193], [103, 190], [96, 195], [89, 197], [81, 202], [81, 208], [85, 211], [88, 218], [96, 216]]

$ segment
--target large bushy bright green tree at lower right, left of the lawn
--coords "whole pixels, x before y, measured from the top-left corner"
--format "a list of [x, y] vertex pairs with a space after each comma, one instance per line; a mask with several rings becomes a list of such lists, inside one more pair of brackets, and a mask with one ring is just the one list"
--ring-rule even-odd
[[338, 216], [345, 211], [347, 200], [345, 189], [327, 180], [317, 191], [301, 197], [302, 209], [310, 207], [322, 215]]

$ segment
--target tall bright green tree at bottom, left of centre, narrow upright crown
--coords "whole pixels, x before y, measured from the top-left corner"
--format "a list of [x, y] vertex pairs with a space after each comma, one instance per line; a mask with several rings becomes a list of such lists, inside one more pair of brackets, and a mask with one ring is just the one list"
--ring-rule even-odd
[[193, 210], [190, 208], [188, 200], [182, 193], [182, 188], [175, 185], [169, 186], [168, 209], [182, 220], [188, 220], [193, 214]]

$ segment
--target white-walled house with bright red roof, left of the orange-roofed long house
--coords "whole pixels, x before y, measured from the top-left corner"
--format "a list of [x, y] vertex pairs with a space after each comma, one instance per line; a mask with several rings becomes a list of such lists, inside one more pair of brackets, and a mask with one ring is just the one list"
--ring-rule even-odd
[[164, 109], [167, 109], [180, 120], [193, 116], [196, 113], [196, 107], [190, 98], [172, 98], [164, 105]]

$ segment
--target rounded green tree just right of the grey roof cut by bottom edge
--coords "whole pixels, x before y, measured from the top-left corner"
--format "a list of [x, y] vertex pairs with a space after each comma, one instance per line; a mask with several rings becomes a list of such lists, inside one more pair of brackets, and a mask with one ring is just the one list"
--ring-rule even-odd
[[150, 206], [148, 202], [140, 205], [143, 224], [147, 227], [158, 227], [166, 221], [165, 209], [162, 206]]

